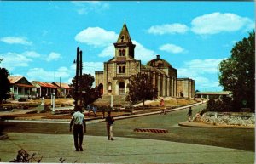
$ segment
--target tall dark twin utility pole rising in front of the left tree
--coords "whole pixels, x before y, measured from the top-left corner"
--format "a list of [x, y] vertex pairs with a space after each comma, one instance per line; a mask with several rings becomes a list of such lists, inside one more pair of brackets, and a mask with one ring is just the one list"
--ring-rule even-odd
[[[78, 109], [78, 106], [82, 106], [82, 88], [81, 88], [81, 80], [82, 80], [82, 51], [80, 51], [79, 47], [77, 48], [77, 59], [73, 61], [73, 64], [76, 64], [76, 75], [75, 75], [75, 109]], [[79, 104], [78, 104], [79, 101]]]

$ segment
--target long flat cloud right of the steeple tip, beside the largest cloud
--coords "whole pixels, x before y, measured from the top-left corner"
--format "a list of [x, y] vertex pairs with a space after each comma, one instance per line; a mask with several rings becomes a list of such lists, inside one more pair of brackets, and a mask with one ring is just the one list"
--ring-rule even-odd
[[166, 25], [154, 25], [148, 29], [148, 33], [163, 35], [163, 34], [183, 34], [189, 31], [187, 25], [175, 23], [175, 24], [166, 24]]

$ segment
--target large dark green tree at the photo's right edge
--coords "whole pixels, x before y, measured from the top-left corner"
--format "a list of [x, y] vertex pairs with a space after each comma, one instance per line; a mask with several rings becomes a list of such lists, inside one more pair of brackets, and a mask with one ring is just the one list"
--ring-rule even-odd
[[238, 111], [255, 105], [255, 31], [243, 38], [231, 50], [231, 56], [219, 64], [219, 83], [233, 92], [233, 108]]

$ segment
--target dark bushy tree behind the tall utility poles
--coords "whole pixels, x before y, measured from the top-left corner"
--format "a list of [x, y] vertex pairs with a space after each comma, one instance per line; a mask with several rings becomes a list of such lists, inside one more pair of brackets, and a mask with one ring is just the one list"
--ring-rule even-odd
[[78, 86], [78, 91], [80, 91], [79, 89], [81, 88], [82, 93], [76, 94], [75, 93], [76, 81], [75, 81], [75, 77], [74, 77], [72, 80], [72, 84], [69, 85], [71, 87], [71, 95], [72, 95], [73, 99], [79, 99], [81, 96], [84, 106], [90, 105], [96, 99], [98, 99], [100, 97], [100, 93], [97, 88], [92, 87], [93, 82], [94, 82], [93, 76], [91, 76], [90, 74], [83, 74], [81, 76], [81, 85]]

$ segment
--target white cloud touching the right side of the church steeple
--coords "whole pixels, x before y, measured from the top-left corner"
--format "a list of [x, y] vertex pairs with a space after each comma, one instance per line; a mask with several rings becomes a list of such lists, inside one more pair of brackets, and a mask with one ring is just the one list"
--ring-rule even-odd
[[132, 41], [134, 44], [136, 44], [135, 50], [134, 50], [134, 58], [140, 59], [143, 61], [143, 63], [148, 62], [151, 59], [154, 59], [156, 56], [156, 53], [153, 50], [150, 50], [148, 48], [145, 48], [141, 43]]

